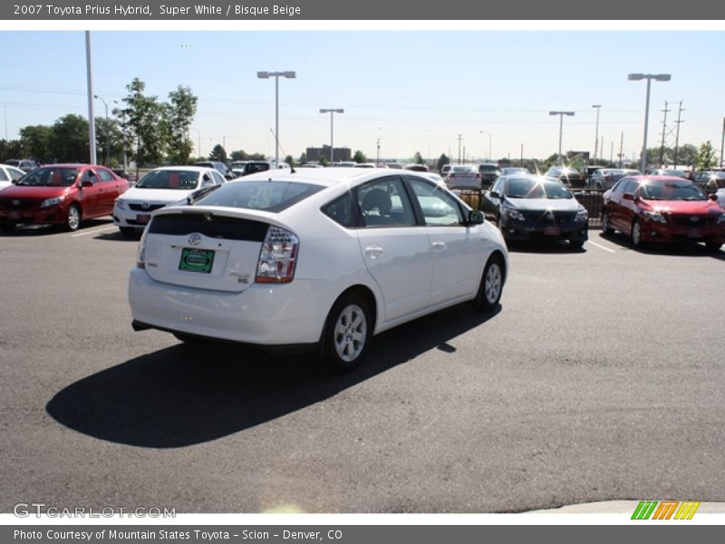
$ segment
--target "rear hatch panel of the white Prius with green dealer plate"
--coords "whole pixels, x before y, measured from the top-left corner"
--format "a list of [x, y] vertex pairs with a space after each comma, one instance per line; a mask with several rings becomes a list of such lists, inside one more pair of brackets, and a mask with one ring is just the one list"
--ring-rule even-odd
[[161, 211], [143, 241], [150, 277], [174, 286], [237, 293], [254, 283], [270, 229], [264, 214], [201, 207]]

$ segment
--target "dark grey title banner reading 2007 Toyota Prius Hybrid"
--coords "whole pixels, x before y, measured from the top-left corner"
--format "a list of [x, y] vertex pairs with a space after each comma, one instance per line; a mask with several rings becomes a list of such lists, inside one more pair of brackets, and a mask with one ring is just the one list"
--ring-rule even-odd
[[677, 21], [725, 19], [725, 3], [691, 0], [664, 5], [643, 0], [518, 0], [470, 2], [445, 0], [14, 0], [0, 5], [3, 20], [129, 20], [129, 21]]

